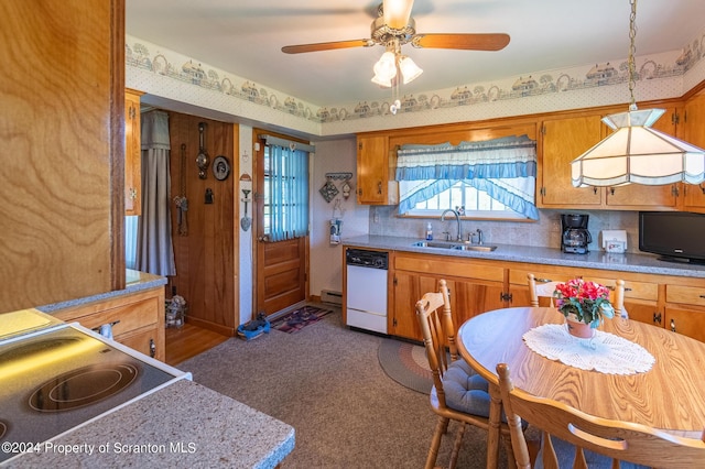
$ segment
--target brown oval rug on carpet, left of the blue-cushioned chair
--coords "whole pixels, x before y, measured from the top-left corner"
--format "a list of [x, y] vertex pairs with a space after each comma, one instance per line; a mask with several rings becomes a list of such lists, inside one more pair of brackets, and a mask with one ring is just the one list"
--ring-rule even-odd
[[384, 373], [410, 390], [429, 394], [433, 386], [433, 375], [426, 350], [421, 346], [394, 339], [382, 339], [377, 352]]

